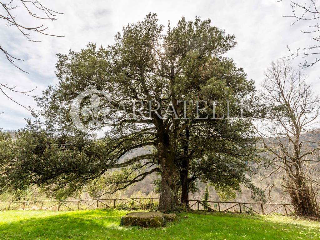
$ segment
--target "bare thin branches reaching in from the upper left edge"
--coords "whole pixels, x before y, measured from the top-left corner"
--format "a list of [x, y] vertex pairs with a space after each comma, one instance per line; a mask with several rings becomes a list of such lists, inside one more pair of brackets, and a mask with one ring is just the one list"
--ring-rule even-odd
[[[25, 9], [25, 11], [32, 18], [53, 21], [53, 20], [57, 20], [57, 18], [56, 18], [57, 14], [62, 14], [60, 12], [56, 12], [56, 11], [53, 11], [53, 10], [45, 7], [38, 0], [29, 0], [29, 1], [11, 0], [11, 1], [8, 1], [8, 3], [5, 3], [4, 1], [0, 1], [0, 19], [5, 20], [8, 27], [15, 27], [24, 37], [27, 38], [28, 41], [31, 41], [31, 42], [39, 42], [39, 41], [36, 41], [32, 38], [33, 37], [33, 35], [31, 35], [32, 32], [37, 32], [37, 33], [40, 33], [43, 35], [48, 35], [48, 36], [57, 36], [57, 35], [47, 33], [46, 30], [48, 28], [44, 27], [44, 24], [40, 24], [39, 26], [30, 26], [28, 24], [28, 22], [24, 22], [23, 20], [20, 20], [19, 16], [15, 14], [17, 7], [19, 7], [18, 5], [15, 4], [15, 2], [19, 2], [21, 7], [23, 7]], [[57, 36], [57, 37], [60, 37], [60, 36]], [[4, 53], [7, 60], [10, 61], [16, 68], [19, 68], [21, 71], [28, 73], [25, 70], [18, 67], [18, 65], [16, 64], [16, 61], [23, 61], [23, 60], [18, 57], [12, 56], [12, 54], [7, 52], [3, 48], [3, 46], [1, 46], [1, 43], [0, 43], [0, 51], [2, 51]], [[0, 83], [0, 91], [4, 94], [4, 96], [6, 96], [7, 98], [12, 100], [16, 104], [19, 104], [20, 106], [22, 106], [23, 108], [26, 108], [28, 110], [30, 110], [30, 109], [23, 106], [22, 104], [18, 103], [16, 100], [12, 99], [12, 97], [9, 97], [8, 94], [4, 90], [9, 90], [12, 92], [18, 92], [18, 93], [22, 93], [27, 96], [31, 96], [31, 95], [29, 95], [29, 93], [34, 91], [35, 89], [36, 88], [29, 90], [29, 91], [17, 91], [15, 89], [15, 86], [8, 86], [7, 83]], [[31, 96], [31, 97], [33, 97], [33, 96]]]

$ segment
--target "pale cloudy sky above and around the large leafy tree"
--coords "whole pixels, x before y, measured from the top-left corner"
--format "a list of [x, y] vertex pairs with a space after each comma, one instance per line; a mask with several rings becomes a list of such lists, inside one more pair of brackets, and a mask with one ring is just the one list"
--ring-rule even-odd
[[[307, 0], [306, 0], [307, 1]], [[1, 2], [9, 2], [1, 0]], [[19, 2], [14, 0], [14, 2]], [[33, 39], [41, 42], [29, 42], [14, 27], [7, 27], [0, 19], [0, 44], [10, 54], [24, 59], [17, 62], [24, 73], [15, 68], [0, 52], [0, 83], [16, 86], [16, 90], [27, 91], [36, 87], [32, 95], [41, 96], [49, 85], [56, 85], [56, 53], [67, 54], [69, 49], [79, 51], [93, 42], [97, 46], [114, 43], [114, 36], [128, 23], [143, 20], [148, 12], [157, 13], [159, 23], [175, 26], [184, 16], [194, 20], [196, 16], [211, 19], [212, 25], [225, 29], [226, 33], [236, 36], [237, 45], [225, 56], [233, 58], [237, 67], [244, 68], [248, 79], [253, 79], [257, 89], [264, 80], [264, 71], [272, 61], [288, 56], [287, 46], [297, 49], [312, 44], [311, 34], [303, 34], [304, 23], [291, 26], [293, 19], [283, 17], [291, 15], [289, 0], [277, 3], [276, 0], [198, 0], [198, 1], [84, 1], [84, 0], [42, 0], [41, 3], [58, 12], [59, 20], [31, 19], [22, 7], [16, 11], [17, 20], [48, 27], [47, 33], [64, 37], [34, 34]], [[1, 12], [0, 12], [1, 14]], [[302, 59], [294, 60], [298, 66]], [[320, 63], [304, 70], [308, 82], [319, 89]], [[24, 106], [37, 109], [36, 102], [23, 94], [6, 93]], [[28, 110], [13, 103], [0, 94], [0, 128], [19, 129], [26, 125]]]

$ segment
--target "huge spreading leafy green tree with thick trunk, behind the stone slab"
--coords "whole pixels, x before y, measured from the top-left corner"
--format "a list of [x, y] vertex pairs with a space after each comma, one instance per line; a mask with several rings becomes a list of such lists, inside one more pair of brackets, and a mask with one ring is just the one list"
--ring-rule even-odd
[[[18, 133], [1, 165], [2, 189], [31, 183], [72, 192], [107, 174], [112, 192], [158, 172], [160, 210], [177, 208], [179, 187], [187, 204], [195, 180], [217, 189], [244, 183], [261, 195], [247, 175], [259, 161], [254, 84], [222, 56], [235, 37], [210, 24], [182, 17], [164, 34], [149, 13], [111, 46], [57, 54], [59, 84], [37, 98], [44, 124], [29, 119]], [[74, 116], [92, 132], [77, 129]]]

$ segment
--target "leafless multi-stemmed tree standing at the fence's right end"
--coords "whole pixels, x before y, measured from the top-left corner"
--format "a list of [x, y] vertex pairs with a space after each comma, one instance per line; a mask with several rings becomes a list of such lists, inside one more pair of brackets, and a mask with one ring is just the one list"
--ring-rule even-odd
[[265, 76], [260, 97], [269, 112], [256, 129], [271, 159], [266, 177], [278, 180], [268, 185], [289, 193], [297, 215], [319, 215], [319, 98], [290, 61], [273, 62]]

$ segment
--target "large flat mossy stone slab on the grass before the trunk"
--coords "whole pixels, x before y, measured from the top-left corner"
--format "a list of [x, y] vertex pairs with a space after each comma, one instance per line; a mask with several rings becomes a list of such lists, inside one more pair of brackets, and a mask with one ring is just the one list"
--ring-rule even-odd
[[121, 218], [121, 225], [141, 227], [162, 227], [162, 212], [129, 212]]

